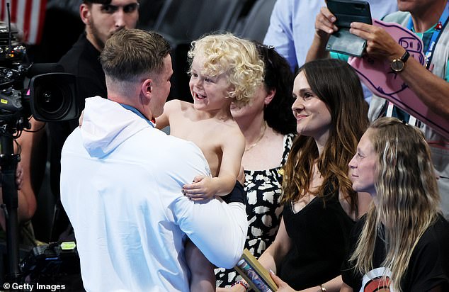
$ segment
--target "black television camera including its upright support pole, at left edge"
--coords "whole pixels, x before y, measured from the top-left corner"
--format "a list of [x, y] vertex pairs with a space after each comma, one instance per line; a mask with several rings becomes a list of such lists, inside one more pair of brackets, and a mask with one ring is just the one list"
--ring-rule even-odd
[[[78, 118], [76, 77], [57, 64], [29, 64], [26, 48], [11, 24], [0, 23], [0, 166], [6, 218], [8, 272], [6, 281], [22, 281], [18, 256], [18, 196], [15, 183], [20, 156], [13, 152], [13, 139], [29, 129], [30, 116], [55, 122]], [[28, 83], [28, 86], [25, 84]], [[29, 260], [28, 260], [29, 262]], [[23, 266], [23, 264], [22, 264]], [[26, 266], [26, 265], [25, 265]]]

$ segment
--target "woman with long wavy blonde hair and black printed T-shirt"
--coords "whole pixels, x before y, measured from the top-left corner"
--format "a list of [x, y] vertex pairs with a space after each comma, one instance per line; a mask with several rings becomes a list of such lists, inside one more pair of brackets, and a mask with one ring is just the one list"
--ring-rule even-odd
[[353, 189], [373, 204], [353, 230], [341, 291], [449, 291], [449, 223], [421, 131], [380, 118], [349, 167]]

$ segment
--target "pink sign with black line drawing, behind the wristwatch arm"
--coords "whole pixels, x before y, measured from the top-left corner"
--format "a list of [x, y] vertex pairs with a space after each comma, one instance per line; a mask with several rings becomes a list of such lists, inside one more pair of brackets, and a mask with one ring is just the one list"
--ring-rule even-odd
[[[394, 40], [397, 40], [399, 45], [409, 51], [411, 57], [424, 66], [423, 42], [417, 35], [397, 23], [385, 23], [373, 19], [373, 26], [384, 28]], [[373, 91], [373, 94], [391, 101], [441, 135], [449, 137], [449, 120], [431, 111], [414, 91], [409, 89], [399, 74], [391, 69], [389, 61], [364, 55], [363, 57], [350, 57], [348, 62], [356, 69], [362, 82]]]

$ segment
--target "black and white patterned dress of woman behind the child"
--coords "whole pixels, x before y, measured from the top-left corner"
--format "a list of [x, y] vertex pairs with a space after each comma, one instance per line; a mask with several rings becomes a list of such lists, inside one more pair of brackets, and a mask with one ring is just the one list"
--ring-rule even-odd
[[[284, 136], [284, 152], [278, 167], [265, 170], [245, 170], [246, 214], [248, 235], [245, 247], [258, 258], [271, 245], [278, 232], [283, 206], [280, 204], [282, 167], [287, 161], [294, 134]], [[238, 278], [236, 279], [236, 277]], [[217, 287], [230, 286], [241, 277], [234, 269], [215, 269]]]

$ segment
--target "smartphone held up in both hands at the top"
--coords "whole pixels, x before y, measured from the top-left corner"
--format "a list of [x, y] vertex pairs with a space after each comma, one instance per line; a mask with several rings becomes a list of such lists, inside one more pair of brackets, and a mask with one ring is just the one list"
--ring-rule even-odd
[[366, 40], [350, 33], [349, 28], [354, 21], [373, 24], [370, 4], [366, 1], [327, 0], [327, 8], [336, 17], [335, 25], [339, 30], [329, 37], [326, 50], [360, 57]]

